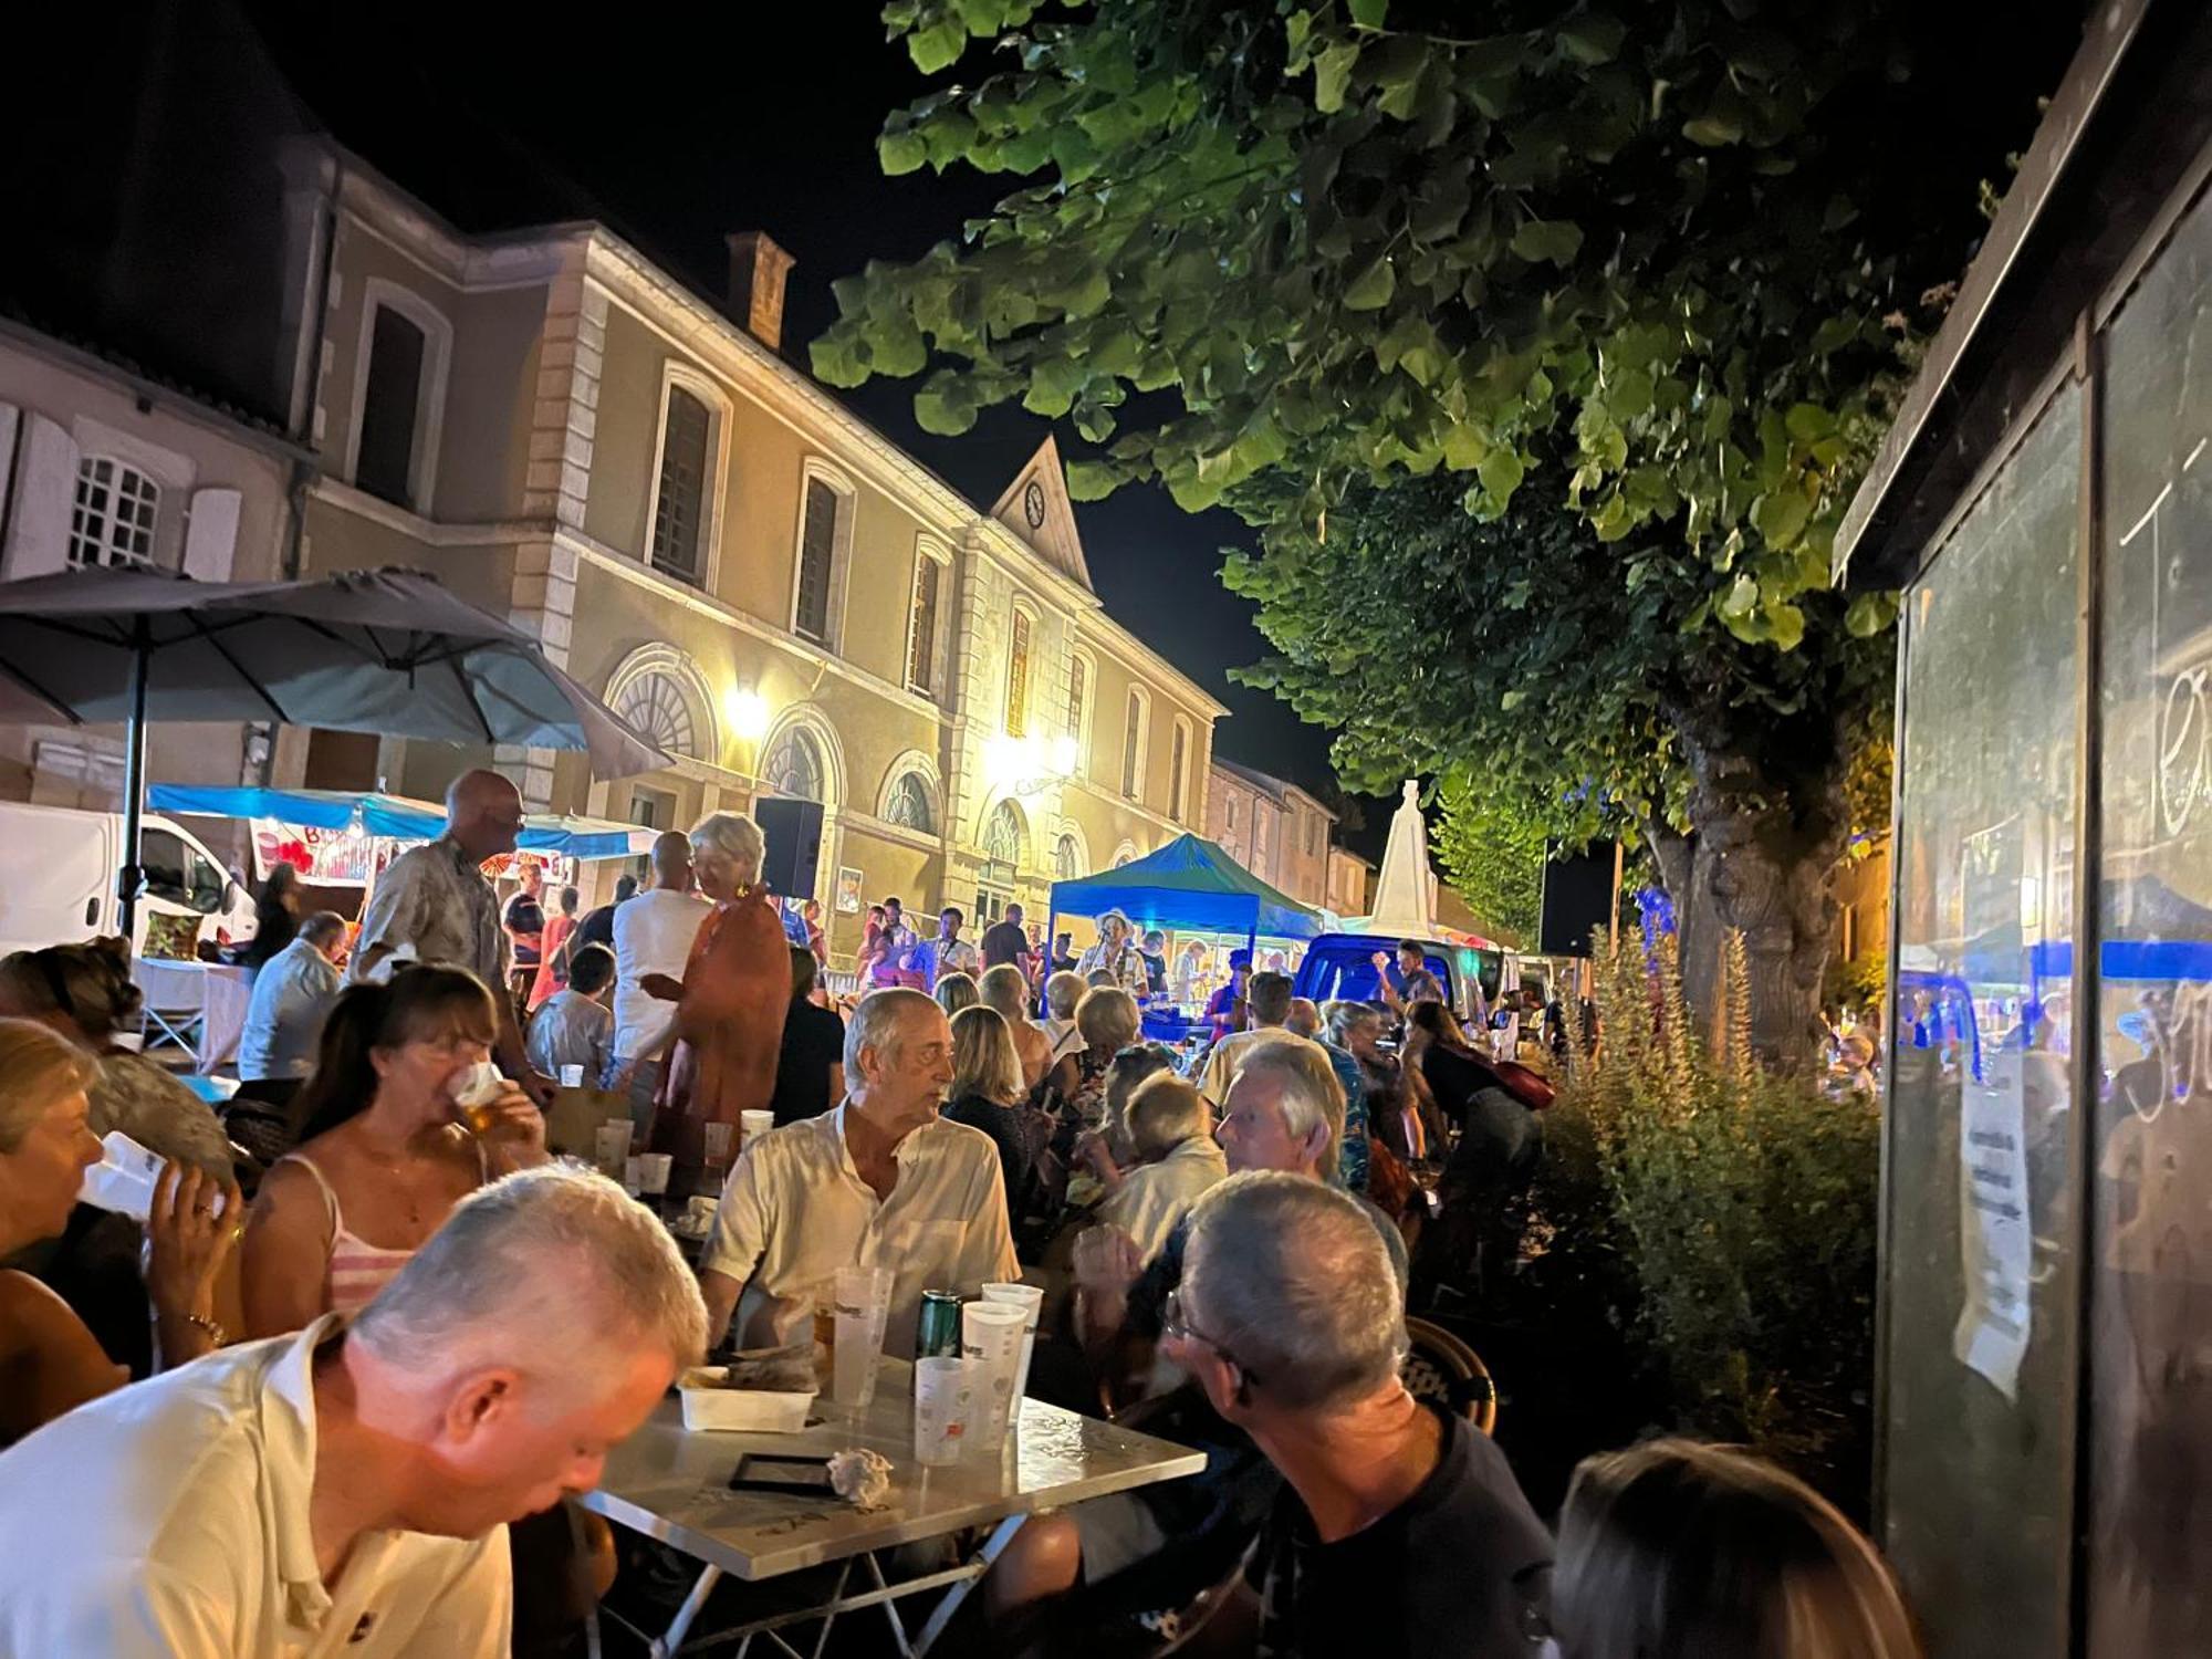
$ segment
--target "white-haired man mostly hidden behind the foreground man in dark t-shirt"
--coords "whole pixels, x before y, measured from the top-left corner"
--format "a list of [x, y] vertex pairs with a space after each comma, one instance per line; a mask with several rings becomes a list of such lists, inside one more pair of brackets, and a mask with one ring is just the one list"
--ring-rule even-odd
[[[1345, 1091], [1327, 1057], [1316, 1044], [1283, 1035], [1243, 1048], [1228, 1086], [1228, 1113], [1214, 1133], [1232, 1175], [1276, 1170], [1321, 1188], [1336, 1170], [1343, 1124]], [[1347, 1203], [1374, 1225], [1402, 1307], [1407, 1259], [1398, 1228], [1365, 1199]], [[1188, 1214], [1150, 1263], [1113, 1225], [1091, 1228], [1075, 1241], [1077, 1329], [1115, 1396], [1152, 1380], [1188, 1241]], [[1175, 1387], [1179, 1383], [1181, 1376], [1172, 1376], [1172, 1394], [1157, 1389], [1166, 1398], [1139, 1407], [1150, 1413], [1144, 1427], [1203, 1449], [1206, 1473], [1033, 1517], [984, 1579], [987, 1606], [1009, 1644], [1022, 1637], [1015, 1626], [1077, 1586], [1102, 1588], [1121, 1608], [1168, 1606], [1217, 1582], [1243, 1555], [1281, 1478], [1243, 1429], [1225, 1422], [1201, 1394]], [[1170, 1540], [1172, 1557], [1166, 1555]], [[1104, 1588], [1108, 1582], [1113, 1588]]]

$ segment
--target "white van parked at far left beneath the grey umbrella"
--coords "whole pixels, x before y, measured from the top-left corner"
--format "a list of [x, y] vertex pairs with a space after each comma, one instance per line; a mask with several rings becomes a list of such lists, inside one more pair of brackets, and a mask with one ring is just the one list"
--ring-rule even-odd
[[[254, 902], [223, 860], [175, 818], [142, 818], [146, 894], [131, 953], [146, 945], [148, 914], [197, 916], [199, 938], [254, 931]], [[0, 801], [0, 953], [73, 945], [122, 931], [115, 872], [124, 867], [124, 814]]]

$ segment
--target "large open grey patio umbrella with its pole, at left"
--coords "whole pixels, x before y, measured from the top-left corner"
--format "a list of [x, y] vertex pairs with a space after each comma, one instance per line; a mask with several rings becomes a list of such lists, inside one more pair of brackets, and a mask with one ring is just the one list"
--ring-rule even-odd
[[535, 639], [420, 571], [316, 582], [69, 571], [0, 582], [0, 679], [71, 723], [128, 723], [124, 927], [139, 887], [148, 719], [591, 750], [599, 776], [668, 765]]

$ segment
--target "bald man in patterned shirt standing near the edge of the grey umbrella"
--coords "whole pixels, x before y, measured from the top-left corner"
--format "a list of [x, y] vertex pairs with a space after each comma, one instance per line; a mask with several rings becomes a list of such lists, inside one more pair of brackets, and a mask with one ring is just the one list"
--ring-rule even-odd
[[389, 980], [405, 962], [469, 969], [500, 1004], [500, 1071], [540, 1106], [553, 1099], [553, 1079], [531, 1071], [522, 1026], [509, 993], [509, 942], [500, 900], [484, 880], [484, 860], [515, 849], [522, 834], [522, 792], [498, 772], [462, 772], [445, 792], [445, 834], [403, 852], [361, 914], [361, 936], [347, 958], [349, 984]]

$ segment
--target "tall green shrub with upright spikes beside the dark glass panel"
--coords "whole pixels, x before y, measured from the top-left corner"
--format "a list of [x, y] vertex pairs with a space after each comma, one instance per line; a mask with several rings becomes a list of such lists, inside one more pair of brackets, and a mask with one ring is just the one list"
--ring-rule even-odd
[[1604, 1044], [1546, 1113], [1553, 1179], [1579, 1168], [1610, 1208], [1582, 1248], [1626, 1256], [1670, 1427], [1756, 1447], [1863, 1509], [1880, 1113], [1752, 1057], [1741, 940], [1710, 1053], [1670, 947], [1652, 971], [1639, 949], [1601, 960]]

